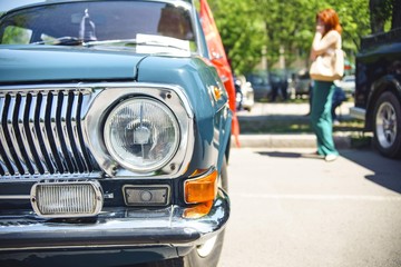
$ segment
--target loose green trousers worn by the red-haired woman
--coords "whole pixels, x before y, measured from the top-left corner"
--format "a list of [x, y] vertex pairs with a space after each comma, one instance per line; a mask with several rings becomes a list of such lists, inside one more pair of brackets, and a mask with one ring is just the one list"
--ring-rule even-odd
[[314, 81], [312, 89], [311, 123], [317, 138], [317, 154], [322, 156], [339, 155], [334, 147], [331, 116], [334, 88], [332, 81]]

